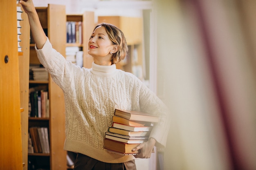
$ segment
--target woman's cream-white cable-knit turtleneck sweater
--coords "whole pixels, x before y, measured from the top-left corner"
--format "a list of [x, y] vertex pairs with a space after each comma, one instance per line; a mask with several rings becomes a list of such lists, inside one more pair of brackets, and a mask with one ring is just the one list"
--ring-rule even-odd
[[47, 38], [38, 58], [54, 82], [63, 89], [66, 114], [64, 149], [88, 155], [99, 161], [121, 163], [135, 159], [103, 149], [105, 132], [112, 125], [115, 109], [139, 110], [161, 115], [150, 137], [164, 147], [168, 132], [164, 104], [137, 77], [116, 69], [116, 65], [80, 68], [56, 52]]

